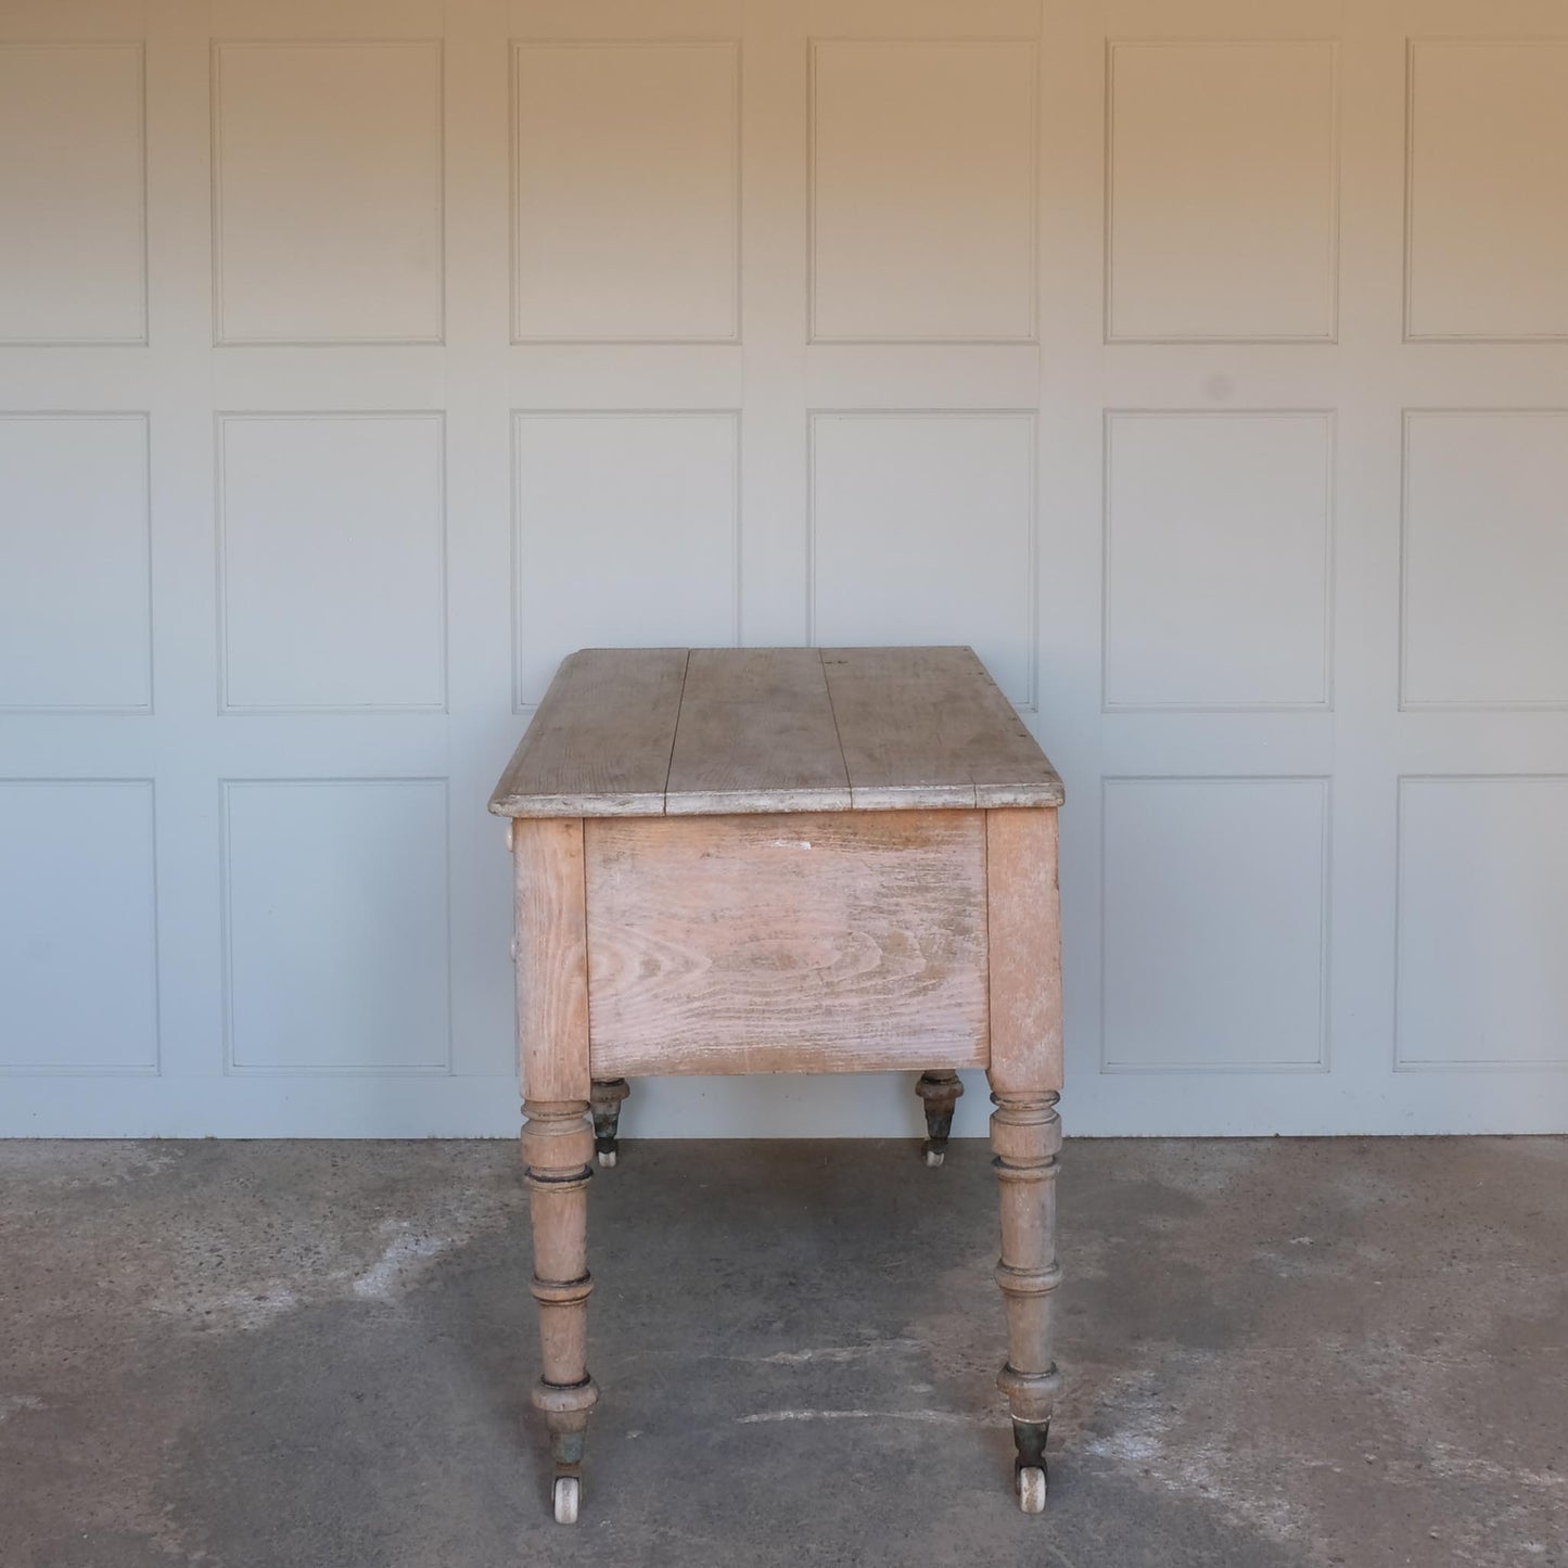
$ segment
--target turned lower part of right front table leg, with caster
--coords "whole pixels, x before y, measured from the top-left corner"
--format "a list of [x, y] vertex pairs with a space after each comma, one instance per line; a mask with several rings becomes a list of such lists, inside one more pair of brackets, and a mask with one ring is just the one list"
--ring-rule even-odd
[[1013, 1413], [1013, 1474], [1025, 1513], [1046, 1505], [1046, 1435], [1062, 1374], [1051, 1355], [1057, 1265], [1057, 1094], [993, 1094], [991, 1148], [1002, 1187], [1002, 1258], [996, 1283], [1007, 1308], [1007, 1364], [997, 1388]]

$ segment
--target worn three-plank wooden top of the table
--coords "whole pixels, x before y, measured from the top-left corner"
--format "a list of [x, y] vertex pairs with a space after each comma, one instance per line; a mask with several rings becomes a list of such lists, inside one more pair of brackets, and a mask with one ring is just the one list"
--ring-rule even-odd
[[969, 648], [585, 648], [495, 786], [499, 817], [1060, 806]]

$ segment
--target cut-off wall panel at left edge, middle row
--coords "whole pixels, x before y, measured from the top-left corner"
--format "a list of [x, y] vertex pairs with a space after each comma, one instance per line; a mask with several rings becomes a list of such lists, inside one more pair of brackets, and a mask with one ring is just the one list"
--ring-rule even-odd
[[147, 420], [0, 414], [0, 709], [152, 706]]

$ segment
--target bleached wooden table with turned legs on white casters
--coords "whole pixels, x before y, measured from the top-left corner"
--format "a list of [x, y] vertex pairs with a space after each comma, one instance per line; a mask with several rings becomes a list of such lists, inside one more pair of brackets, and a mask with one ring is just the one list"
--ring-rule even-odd
[[[991, 1082], [1014, 1485], [1044, 1507], [1062, 1124], [1062, 781], [967, 648], [583, 649], [489, 809], [516, 872], [522, 1134], [555, 1518], [577, 1518], [588, 1179], [626, 1079]], [[590, 1121], [591, 1112], [591, 1121]]]

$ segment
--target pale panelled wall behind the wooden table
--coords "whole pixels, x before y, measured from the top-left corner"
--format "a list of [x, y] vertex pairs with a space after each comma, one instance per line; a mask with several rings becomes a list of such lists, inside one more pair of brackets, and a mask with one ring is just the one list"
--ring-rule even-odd
[[1069, 1127], [1568, 1129], [1559, 0], [0, 0], [0, 1131], [510, 1134], [555, 662], [814, 641], [1066, 778]]

